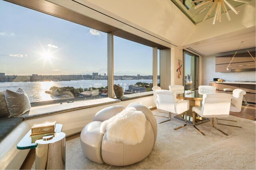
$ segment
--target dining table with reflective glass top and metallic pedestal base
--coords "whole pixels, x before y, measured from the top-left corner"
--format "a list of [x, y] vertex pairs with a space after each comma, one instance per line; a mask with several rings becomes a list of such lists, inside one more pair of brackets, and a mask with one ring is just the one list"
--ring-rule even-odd
[[[187, 111], [187, 121], [188, 123], [192, 123], [193, 121], [193, 112], [192, 112], [192, 107], [194, 106], [201, 106], [202, 101], [203, 101], [203, 95], [207, 94], [209, 92], [206, 91], [198, 91], [198, 90], [184, 90], [184, 93], [182, 94], [177, 94], [177, 99], [180, 100], [189, 100], [189, 110]], [[175, 115], [174, 116], [177, 119], [184, 120], [185, 121], [185, 115], [184, 113]], [[200, 117], [199, 115], [196, 114], [196, 120], [195, 120], [195, 125], [200, 125], [202, 123], [206, 123], [210, 121], [210, 119], [205, 118], [205, 117]]]

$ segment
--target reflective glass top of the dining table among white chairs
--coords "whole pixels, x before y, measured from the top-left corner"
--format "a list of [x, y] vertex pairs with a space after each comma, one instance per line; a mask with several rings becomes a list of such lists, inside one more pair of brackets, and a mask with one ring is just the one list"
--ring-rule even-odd
[[204, 94], [207, 94], [209, 92], [205, 91], [188, 91], [185, 90], [183, 94], [177, 94], [178, 99], [187, 99], [187, 100], [203, 100]]

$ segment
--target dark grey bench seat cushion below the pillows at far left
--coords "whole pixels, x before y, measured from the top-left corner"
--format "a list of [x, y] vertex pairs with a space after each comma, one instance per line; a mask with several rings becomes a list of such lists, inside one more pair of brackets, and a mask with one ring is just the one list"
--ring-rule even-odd
[[0, 117], [0, 142], [21, 122], [22, 117]]

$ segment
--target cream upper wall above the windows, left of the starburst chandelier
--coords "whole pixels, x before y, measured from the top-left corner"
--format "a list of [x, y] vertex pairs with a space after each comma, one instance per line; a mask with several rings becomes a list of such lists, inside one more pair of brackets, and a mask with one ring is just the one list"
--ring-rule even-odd
[[78, 2], [83, 2], [104, 14], [167, 39], [178, 46], [182, 45], [196, 28], [171, 0], [78, 0]]

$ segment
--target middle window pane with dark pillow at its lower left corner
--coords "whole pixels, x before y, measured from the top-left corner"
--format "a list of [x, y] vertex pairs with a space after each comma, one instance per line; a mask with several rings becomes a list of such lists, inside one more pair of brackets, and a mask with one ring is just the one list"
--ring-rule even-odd
[[114, 84], [124, 94], [152, 91], [152, 47], [114, 36]]

